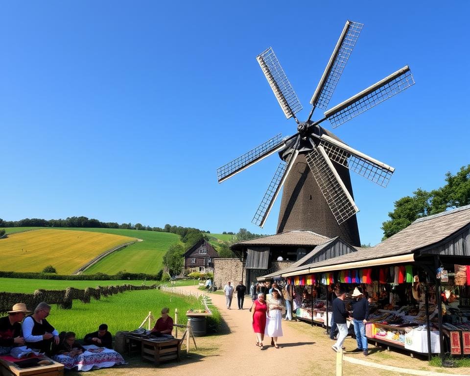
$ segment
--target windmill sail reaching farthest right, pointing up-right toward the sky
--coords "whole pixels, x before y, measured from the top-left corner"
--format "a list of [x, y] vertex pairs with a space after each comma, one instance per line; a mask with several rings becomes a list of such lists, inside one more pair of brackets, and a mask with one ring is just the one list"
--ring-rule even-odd
[[333, 128], [362, 114], [380, 102], [414, 85], [415, 81], [408, 66], [392, 73], [383, 80], [352, 96], [325, 112]]

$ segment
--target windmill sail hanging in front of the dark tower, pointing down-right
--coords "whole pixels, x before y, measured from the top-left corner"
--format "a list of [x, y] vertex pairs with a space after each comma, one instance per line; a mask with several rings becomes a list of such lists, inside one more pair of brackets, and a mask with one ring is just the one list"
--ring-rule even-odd
[[318, 146], [313, 149], [305, 155], [305, 159], [338, 224], [357, 213], [359, 209], [323, 147]]

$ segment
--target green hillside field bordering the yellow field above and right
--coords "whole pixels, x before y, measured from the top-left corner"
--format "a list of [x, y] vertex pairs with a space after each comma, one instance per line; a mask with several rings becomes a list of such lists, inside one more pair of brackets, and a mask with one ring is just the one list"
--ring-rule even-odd
[[[158, 233], [154, 231], [123, 230], [123, 229], [102, 229], [102, 228], [44, 228], [44, 227], [14, 227], [5, 228], [7, 234], [27, 230], [74, 230], [97, 232], [112, 235], [122, 235], [140, 238], [143, 241], [134, 243], [125, 249], [116, 251], [103, 258], [84, 274], [106, 273], [116, 274], [119, 271], [130, 273], [156, 274], [162, 269], [162, 261], [165, 252], [171, 244], [179, 241], [179, 236], [170, 233]], [[1, 239], [4, 241], [5, 239]], [[0, 243], [1, 244], [1, 243]], [[51, 250], [53, 251], [53, 250]]]

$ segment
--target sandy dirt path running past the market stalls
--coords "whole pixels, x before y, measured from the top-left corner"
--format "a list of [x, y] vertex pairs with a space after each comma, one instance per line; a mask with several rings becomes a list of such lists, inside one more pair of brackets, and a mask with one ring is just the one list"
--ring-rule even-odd
[[[200, 292], [197, 286], [179, 287], [192, 292]], [[248, 299], [247, 299], [248, 298]], [[245, 297], [244, 309], [237, 309], [236, 299], [232, 309], [225, 306], [225, 297], [211, 294], [212, 303], [218, 307], [225, 327], [217, 335], [196, 337], [198, 349], [191, 341], [189, 353], [182, 347], [181, 362], [166, 362], [159, 367], [150, 362], [142, 362], [140, 356], [125, 356], [127, 366], [93, 371], [94, 376], [163, 376], [175, 373], [178, 376], [252, 376], [252, 375], [335, 375], [336, 353], [331, 350], [333, 343], [325, 334], [325, 329], [311, 327], [304, 322], [282, 321], [283, 337], [279, 338], [280, 349], [269, 346], [261, 351], [255, 345], [255, 335], [251, 325], [251, 299]], [[181, 333], [178, 333], [181, 337]], [[267, 338], [265, 345], [270, 344]], [[348, 337], [345, 341], [347, 351], [356, 348], [356, 341]], [[266, 346], [265, 346], [266, 347]], [[347, 354], [368, 363], [406, 367], [422, 371], [437, 371], [448, 374], [470, 375], [470, 369], [437, 369], [430, 367], [422, 359], [410, 358], [407, 353], [387, 352], [369, 345], [371, 354]], [[367, 363], [365, 363], [367, 364]], [[363, 376], [400, 376], [409, 373], [393, 372], [370, 368], [364, 364], [344, 362], [344, 375]], [[70, 372], [69, 375], [83, 375]]]

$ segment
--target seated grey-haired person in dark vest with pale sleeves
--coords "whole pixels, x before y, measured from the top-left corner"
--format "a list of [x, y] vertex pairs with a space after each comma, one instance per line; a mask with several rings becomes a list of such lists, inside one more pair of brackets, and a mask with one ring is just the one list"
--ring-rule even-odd
[[30, 349], [46, 352], [48, 355], [51, 354], [52, 344], [59, 344], [59, 332], [46, 320], [50, 308], [50, 305], [45, 302], [39, 303], [34, 309], [34, 313], [26, 317], [22, 324], [26, 346]]

